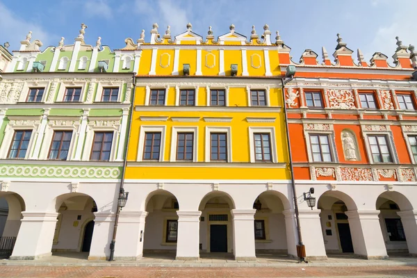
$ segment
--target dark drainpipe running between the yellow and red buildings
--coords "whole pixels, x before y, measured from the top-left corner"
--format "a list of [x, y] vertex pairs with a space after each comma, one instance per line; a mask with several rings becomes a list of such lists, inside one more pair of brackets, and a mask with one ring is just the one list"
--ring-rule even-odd
[[305, 247], [302, 243], [302, 235], [301, 235], [301, 226], [300, 226], [300, 215], [298, 213], [298, 204], [297, 204], [297, 190], [295, 190], [295, 179], [294, 179], [294, 167], [293, 167], [293, 155], [291, 153], [291, 140], [290, 140], [290, 130], [288, 129], [288, 115], [287, 115], [287, 108], [285, 103], [285, 84], [289, 81], [293, 80], [293, 76], [286, 79], [281, 79], [282, 85], [282, 100], [284, 102], [284, 118], [285, 118], [285, 128], [286, 128], [286, 140], [287, 140], [287, 147], [288, 147], [288, 160], [290, 164], [290, 174], [291, 174], [291, 186], [293, 188], [293, 197], [294, 197], [294, 210], [295, 210], [295, 221], [297, 222], [297, 234], [298, 234], [298, 245], [297, 245], [297, 256], [300, 258], [300, 263], [305, 262]]

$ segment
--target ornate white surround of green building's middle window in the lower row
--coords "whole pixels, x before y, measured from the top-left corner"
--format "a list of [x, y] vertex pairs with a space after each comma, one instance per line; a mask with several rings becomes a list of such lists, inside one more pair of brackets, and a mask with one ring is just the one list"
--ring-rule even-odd
[[45, 129], [43, 144], [40, 149], [39, 159], [48, 159], [49, 147], [54, 137], [54, 131], [72, 130], [70, 149], [68, 149], [67, 161], [72, 160], [76, 138], [79, 138], [79, 129], [81, 126], [80, 117], [49, 117], [47, 128]]

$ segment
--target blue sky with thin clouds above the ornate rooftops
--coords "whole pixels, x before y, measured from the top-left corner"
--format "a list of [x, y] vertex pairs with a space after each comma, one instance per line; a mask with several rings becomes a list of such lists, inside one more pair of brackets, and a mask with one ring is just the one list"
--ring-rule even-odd
[[72, 44], [84, 22], [87, 44], [94, 45], [100, 36], [102, 44], [118, 49], [125, 38], [136, 41], [142, 29], [149, 41], [154, 22], [161, 35], [167, 25], [177, 35], [191, 22], [193, 31], [204, 37], [208, 26], [218, 36], [232, 23], [238, 33], [249, 37], [254, 25], [260, 35], [267, 23], [272, 38], [279, 31], [291, 47], [295, 62], [304, 49], [316, 51], [319, 60], [322, 46], [332, 55], [336, 33], [355, 51], [355, 59], [360, 48], [366, 60], [379, 51], [392, 62], [396, 35], [404, 45], [417, 44], [415, 4], [416, 0], [0, 0], [0, 42], [8, 41], [9, 50], [17, 50], [19, 41], [33, 31], [32, 40], [41, 40], [42, 49], [58, 45], [60, 37]]

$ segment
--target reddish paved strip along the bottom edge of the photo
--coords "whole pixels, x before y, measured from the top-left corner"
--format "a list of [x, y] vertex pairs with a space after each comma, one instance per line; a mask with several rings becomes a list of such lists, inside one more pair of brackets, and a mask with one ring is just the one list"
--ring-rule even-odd
[[177, 278], [177, 277], [417, 277], [417, 265], [293, 268], [140, 268], [135, 266], [1, 265], [0, 277]]

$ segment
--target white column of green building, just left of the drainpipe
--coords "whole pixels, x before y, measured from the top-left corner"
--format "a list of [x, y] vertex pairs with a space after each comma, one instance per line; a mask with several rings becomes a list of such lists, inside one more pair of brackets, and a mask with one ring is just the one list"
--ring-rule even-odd
[[115, 213], [94, 213], [94, 231], [90, 247], [89, 260], [106, 260], [110, 256], [110, 243], [113, 238], [113, 227], [115, 225]]

